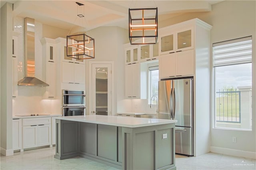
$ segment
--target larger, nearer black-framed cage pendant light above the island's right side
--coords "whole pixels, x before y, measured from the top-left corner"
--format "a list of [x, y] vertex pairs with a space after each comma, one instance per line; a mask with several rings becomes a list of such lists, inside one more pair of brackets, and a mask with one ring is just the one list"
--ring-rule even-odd
[[129, 39], [133, 44], [156, 44], [158, 38], [157, 8], [129, 8]]

